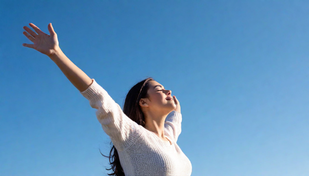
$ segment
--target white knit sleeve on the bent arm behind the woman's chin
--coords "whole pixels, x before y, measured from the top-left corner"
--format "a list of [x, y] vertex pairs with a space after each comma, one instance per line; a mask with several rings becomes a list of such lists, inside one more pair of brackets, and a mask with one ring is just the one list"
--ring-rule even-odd
[[181, 113], [174, 110], [167, 115], [164, 122], [165, 131], [174, 139], [175, 142], [177, 142], [178, 136], [181, 133], [181, 121]]

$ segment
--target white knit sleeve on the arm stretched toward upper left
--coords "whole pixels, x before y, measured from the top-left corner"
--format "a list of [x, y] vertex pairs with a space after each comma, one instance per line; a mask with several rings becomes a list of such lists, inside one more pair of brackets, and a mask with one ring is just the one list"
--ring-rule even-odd
[[119, 152], [134, 144], [142, 133], [142, 126], [126, 116], [119, 104], [94, 79], [80, 93], [89, 100], [92, 108], [97, 109], [95, 114], [99, 123]]

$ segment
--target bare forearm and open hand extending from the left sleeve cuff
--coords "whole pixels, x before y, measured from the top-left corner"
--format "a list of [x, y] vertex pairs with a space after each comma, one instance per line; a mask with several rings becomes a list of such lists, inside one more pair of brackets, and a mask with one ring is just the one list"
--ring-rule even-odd
[[23, 43], [23, 46], [33, 48], [53, 60], [54, 63], [60, 68], [64, 75], [70, 80], [70, 82], [80, 91], [83, 92], [91, 84], [92, 80], [86, 75], [80, 68], [78, 68], [66, 55], [61, 51], [57, 34], [53, 29], [52, 23], [48, 24], [48, 31], [50, 35], [45, 34], [33, 23], [29, 25], [36, 31], [32, 31], [30, 28], [24, 26], [23, 29], [27, 32], [23, 32], [26, 37], [33, 42], [33, 44]]

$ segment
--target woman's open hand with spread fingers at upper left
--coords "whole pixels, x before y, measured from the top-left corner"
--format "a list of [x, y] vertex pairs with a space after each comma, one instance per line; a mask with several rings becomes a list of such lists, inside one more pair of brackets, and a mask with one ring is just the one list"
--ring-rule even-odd
[[53, 53], [59, 49], [59, 42], [57, 34], [53, 29], [52, 23], [49, 23], [47, 27], [50, 35], [45, 34], [33, 23], [29, 23], [29, 25], [34, 29], [34, 31], [36, 31], [37, 34], [27, 26], [24, 26], [23, 29], [26, 30], [30, 35], [25, 31], [23, 31], [23, 34], [26, 35], [26, 37], [31, 40], [33, 44], [23, 43], [23, 46], [33, 48], [47, 56], [53, 55]]

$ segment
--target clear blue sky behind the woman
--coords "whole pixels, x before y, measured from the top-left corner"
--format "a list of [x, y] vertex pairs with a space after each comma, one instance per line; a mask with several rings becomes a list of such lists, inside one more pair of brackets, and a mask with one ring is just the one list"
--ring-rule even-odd
[[309, 3], [0, 2], [0, 175], [110, 173], [89, 101], [23, 26], [53, 24], [62, 51], [121, 105], [152, 76], [181, 104], [192, 176], [309, 175]]

